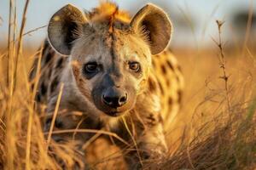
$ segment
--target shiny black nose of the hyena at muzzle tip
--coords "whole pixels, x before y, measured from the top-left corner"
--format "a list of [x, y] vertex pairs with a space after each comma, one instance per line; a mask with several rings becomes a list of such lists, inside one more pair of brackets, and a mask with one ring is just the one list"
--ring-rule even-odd
[[119, 88], [108, 88], [102, 94], [102, 101], [105, 105], [117, 108], [125, 105], [127, 101], [127, 93], [125, 92], [125, 90]]

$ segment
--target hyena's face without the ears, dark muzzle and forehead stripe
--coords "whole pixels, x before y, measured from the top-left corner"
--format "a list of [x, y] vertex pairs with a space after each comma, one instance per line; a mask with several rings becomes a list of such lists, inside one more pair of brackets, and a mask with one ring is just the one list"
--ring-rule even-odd
[[123, 30], [109, 32], [108, 27], [78, 39], [71, 60], [80, 92], [98, 110], [119, 116], [131, 110], [143, 91], [151, 54], [143, 40]]

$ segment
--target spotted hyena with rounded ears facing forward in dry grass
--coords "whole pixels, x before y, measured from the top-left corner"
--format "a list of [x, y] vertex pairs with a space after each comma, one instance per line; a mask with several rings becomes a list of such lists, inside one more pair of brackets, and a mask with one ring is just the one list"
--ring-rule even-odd
[[[177, 114], [183, 90], [180, 67], [166, 49], [171, 34], [167, 14], [152, 3], [132, 18], [109, 2], [90, 12], [71, 4], [61, 8], [49, 20], [42, 49], [36, 100], [49, 115], [44, 129], [49, 130], [63, 84], [55, 129], [118, 134], [136, 150], [125, 156], [131, 169], [139, 167], [138, 160], [166, 156], [164, 132]], [[92, 136], [78, 133], [75, 139], [86, 143]], [[56, 141], [71, 137], [53, 135]]]

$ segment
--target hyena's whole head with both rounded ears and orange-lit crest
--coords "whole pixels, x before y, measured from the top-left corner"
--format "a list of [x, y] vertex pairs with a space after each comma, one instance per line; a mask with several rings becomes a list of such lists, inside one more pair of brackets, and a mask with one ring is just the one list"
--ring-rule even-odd
[[68, 4], [49, 20], [49, 42], [70, 56], [79, 92], [95, 111], [119, 116], [130, 111], [143, 93], [151, 55], [159, 54], [171, 37], [166, 13], [147, 4], [130, 20], [113, 3], [91, 12]]

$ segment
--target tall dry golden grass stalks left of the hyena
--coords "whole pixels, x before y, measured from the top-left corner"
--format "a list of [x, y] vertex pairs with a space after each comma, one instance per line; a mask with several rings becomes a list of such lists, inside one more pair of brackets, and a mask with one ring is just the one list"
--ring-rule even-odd
[[[21, 26], [17, 32], [16, 2], [9, 1], [8, 49], [3, 51], [0, 84], [0, 167], [1, 169], [61, 169], [81, 162], [73, 143], [48, 144], [35, 110], [35, 90], [28, 82], [27, 59], [23, 54], [24, 27], [26, 26], [26, 1]], [[39, 74], [39, 73], [38, 73]], [[37, 80], [38, 81], [38, 80]], [[36, 87], [35, 87], [36, 89]], [[47, 150], [48, 147], [50, 150]], [[56, 154], [57, 153], [57, 154]], [[55, 157], [55, 159], [54, 159]], [[56, 159], [57, 158], [57, 159]], [[58, 162], [63, 161], [63, 165]], [[79, 163], [82, 166], [82, 163]]]

